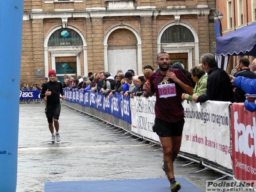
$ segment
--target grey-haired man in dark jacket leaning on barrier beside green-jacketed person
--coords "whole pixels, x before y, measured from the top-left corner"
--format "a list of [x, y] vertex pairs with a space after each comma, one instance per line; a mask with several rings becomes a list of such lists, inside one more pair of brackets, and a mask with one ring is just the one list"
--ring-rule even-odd
[[204, 95], [195, 96], [195, 102], [220, 100], [232, 102], [232, 84], [225, 70], [218, 68], [215, 57], [211, 53], [201, 57], [202, 65], [208, 74], [207, 91]]

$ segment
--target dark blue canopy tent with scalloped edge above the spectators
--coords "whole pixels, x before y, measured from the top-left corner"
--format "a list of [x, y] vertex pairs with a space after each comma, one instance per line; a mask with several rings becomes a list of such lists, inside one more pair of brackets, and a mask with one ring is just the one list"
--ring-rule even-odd
[[217, 38], [216, 55], [256, 56], [256, 22]]

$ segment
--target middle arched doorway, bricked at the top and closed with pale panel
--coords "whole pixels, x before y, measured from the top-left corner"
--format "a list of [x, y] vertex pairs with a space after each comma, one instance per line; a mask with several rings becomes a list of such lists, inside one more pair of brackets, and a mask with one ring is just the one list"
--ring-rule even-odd
[[[122, 40], [117, 45], [115, 41], [118, 38]], [[115, 76], [118, 69], [124, 72], [133, 69], [136, 74], [142, 73], [141, 37], [130, 26], [115, 26], [104, 38], [104, 70]]]

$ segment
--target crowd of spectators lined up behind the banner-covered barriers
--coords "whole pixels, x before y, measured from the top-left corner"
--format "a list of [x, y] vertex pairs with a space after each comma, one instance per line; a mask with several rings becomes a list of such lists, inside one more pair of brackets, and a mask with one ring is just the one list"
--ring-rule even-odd
[[[246, 57], [239, 58], [236, 68], [232, 70], [232, 76], [230, 77], [227, 72], [218, 68], [214, 55], [209, 53], [204, 54], [200, 60], [201, 63], [191, 68], [189, 72], [180, 62], [170, 65], [170, 68], [178, 68], [181, 70], [193, 85], [193, 95], [184, 93], [182, 94], [182, 100], [194, 100], [195, 102], [200, 103], [207, 100], [251, 102], [248, 101], [245, 96], [246, 91], [243, 89], [244, 85], [241, 86], [235, 84], [234, 79], [240, 76], [248, 79], [256, 79], [256, 59], [250, 63]], [[109, 97], [112, 97], [115, 93], [124, 94], [125, 97], [148, 97], [147, 93], [143, 90], [143, 84], [148, 81], [150, 74], [157, 71], [158, 70], [154, 70], [151, 65], [146, 65], [143, 67], [143, 74], [139, 75], [136, 75], [132, 69], [129, 69], [126, 72], [118, 70], [115, 76], [112, 76], [110, 72], [103, 70], [96, 73], [89, 72], [87, 76], [77, 76], [77, 78], [68, 75], [63, 80], [63, 88], [67, 90], [83, 90], [84, 92], [93, 90], [94, 92], [101, 92], [104, 95], [109, 95]], [[44, 83], [47, 83], [47, 81], [48, 78], [45, 77]], [[58, 78], [56, 81], [58, 81]], [[256, 81], [253, 81], [253, 83], [254, 82]], [[21, 90], [41, 90], [44, 83], [33, 84], [32, 86], [24, 83]]]

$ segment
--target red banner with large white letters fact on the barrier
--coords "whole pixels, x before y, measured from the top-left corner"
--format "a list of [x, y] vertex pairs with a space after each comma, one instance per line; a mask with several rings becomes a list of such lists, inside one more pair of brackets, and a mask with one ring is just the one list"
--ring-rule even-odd
[[256, 113], [244, 113], [243, 103], [232, 104], [232, 157], [234, 177], [256, 179]]

